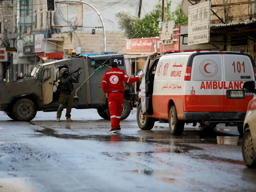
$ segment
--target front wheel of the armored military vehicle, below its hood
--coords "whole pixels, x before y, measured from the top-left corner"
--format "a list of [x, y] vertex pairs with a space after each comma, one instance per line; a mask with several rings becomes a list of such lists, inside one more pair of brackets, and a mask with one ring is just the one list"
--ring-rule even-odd
[[36, 105], [30, 99], [20, 99], [13, 106], [13, 116], [18, 121], [31, 121], [36, 112]]

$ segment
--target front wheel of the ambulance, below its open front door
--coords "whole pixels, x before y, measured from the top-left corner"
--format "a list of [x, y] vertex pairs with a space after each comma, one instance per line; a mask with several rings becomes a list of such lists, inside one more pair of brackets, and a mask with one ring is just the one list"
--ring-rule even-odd
[[141, 103], [137, 108], [137, 123], [141, 130], [151, 130], [154, 127], [155, 119], [142, 115]]

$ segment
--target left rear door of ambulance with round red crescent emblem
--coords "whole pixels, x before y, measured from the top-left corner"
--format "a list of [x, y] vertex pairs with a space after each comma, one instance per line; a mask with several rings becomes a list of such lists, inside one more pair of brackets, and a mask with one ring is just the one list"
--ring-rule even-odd
[[199, 53], [189, 61], [191, 79], [186, 90], [186, 112], [223, 112], [222, 66], [222, 55], [218, 53]]

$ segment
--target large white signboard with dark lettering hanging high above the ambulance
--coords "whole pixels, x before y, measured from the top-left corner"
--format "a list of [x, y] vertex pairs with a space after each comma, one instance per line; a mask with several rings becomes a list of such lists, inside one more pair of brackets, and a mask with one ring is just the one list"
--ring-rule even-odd
[[188, 45], [209, 43], [211, 1], [188, 7]]

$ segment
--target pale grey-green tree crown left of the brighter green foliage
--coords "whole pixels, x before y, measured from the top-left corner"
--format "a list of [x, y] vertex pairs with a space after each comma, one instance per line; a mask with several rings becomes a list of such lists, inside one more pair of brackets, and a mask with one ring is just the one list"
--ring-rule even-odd
[[132, 13], [127, 10], [117, 11], [115, 15], [119, 28], [125, 31], [127, 37], [131, 38], [136, 33], [134, 26], [137, 23], [138, 17], [132, 15]]

